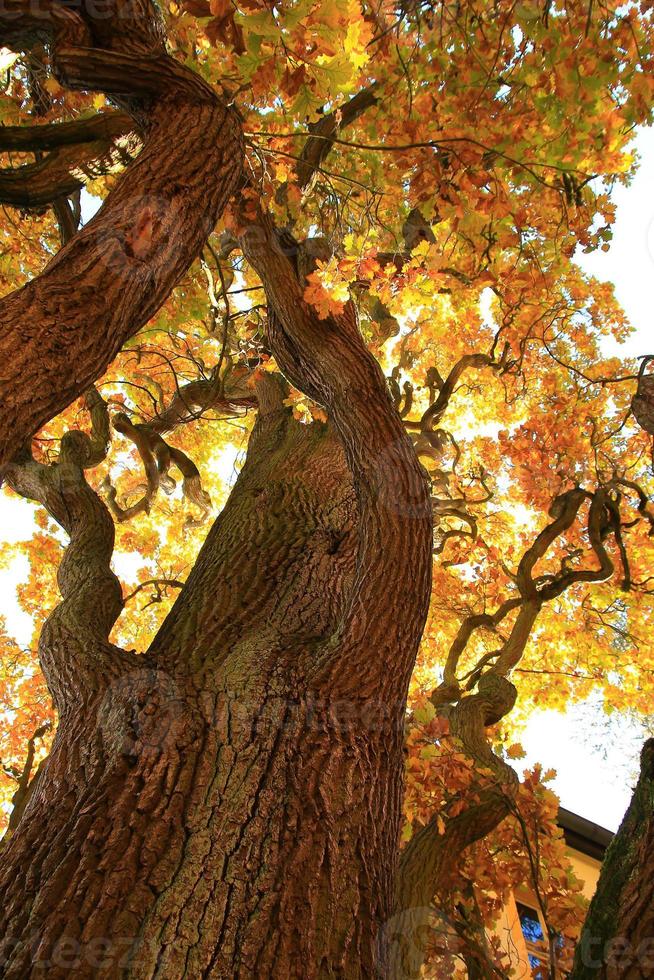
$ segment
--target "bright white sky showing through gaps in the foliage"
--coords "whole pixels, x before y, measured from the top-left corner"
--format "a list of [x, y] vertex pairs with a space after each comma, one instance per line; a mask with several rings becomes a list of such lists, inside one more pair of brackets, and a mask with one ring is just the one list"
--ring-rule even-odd
[[[611, 249], [580, 254], [579, 262], [588, 273], [615, 284], [617, 298], [635, 327], [627, 344], [615, 352], [639, 356], [654, 353], [654, 130], [641, 131], [635, 146], [641, 167], [628, 188], [614, 192], [617, 219]], [[26, 501], [0, 492], [1, 541], [10, 544], [31, 537], [34, 510]], [[31, 641], [32, 626], [18, 607], [16, 586], [26, 577], [26, 559], [0, 568], [0, 613], [25, 645]], [[608, 719], [598, 703], [579, 705], [566, 715], [541, 711], [522, 738], [527, 758], [518, 768], [541, 762], [546, 769], [556, 769], [550, 785], [562, 805], [616, 830], [631, 797], [642, 741], [639, 729], [615, 715]]]

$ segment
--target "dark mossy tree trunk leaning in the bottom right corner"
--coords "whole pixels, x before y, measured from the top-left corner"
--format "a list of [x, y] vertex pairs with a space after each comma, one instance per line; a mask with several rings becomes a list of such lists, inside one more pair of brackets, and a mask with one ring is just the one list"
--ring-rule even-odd
[[654, 974], [654, 739], [611, 841], [577, 944], [570, 980], [646, 980]]

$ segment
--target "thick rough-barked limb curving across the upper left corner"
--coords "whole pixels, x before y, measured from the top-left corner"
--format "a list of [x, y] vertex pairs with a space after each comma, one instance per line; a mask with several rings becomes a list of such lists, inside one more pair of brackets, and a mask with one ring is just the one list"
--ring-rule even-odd
[[[51, 42], [59, 80], [105, 92], [143, 138], [94, 219], [0, 304], [1, 465], [159, 309], [237, 187], [243, 141], [235, 110], [166, 54], [150, 0], [108, 0], [95, 17], [15, 0], [3, 5], [0, 30], [17, 50]], [[56, 143], [44, 128], [46, 142]], [[65, 143], [72, 128], [66, 124]], [[105, 150], [101, 141], [97, 153]], [[55, 150], [60, 164], [65, 152]]]

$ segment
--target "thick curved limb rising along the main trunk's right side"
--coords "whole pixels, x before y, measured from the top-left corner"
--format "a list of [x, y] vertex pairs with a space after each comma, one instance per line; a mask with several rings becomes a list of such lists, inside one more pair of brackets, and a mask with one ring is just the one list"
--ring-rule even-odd
[[[256, 223], [244, 224], [241, 248], [266, 291], [275, 360], [296, 387], [326, 408], [358, 494], [359, 554], [350, 606], [319, 669], [335, 689], [354, 683], [364, 698], [388, 684], [396, 696], [398, 674], [408, 682], [429, 603], [427, 483], [386, 379], [361, 338], [353, 304], [320, 320], [289, 259], [292, 242], [280, 239], [263, 212]], [[383, 612], [391, 596], [405, 613], [389, 624]], [[347, 672], [336, 665], [341, 658]]]

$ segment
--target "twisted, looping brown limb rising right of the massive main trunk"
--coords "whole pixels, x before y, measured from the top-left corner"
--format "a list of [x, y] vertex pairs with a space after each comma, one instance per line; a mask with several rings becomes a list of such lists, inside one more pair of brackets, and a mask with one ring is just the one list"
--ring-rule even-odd
[[[586, 500], [590, 500], [588, 537], [599, 567], [571, 569], [564, 559], [558, 573], [535, 578], [536, 564], [569, 530]], [[519, 663], [542, 605], [576, 582], [604, 581], [613, 573], [604, 541], [610, 533], [617, 540], [614, 508], [615, 503], [604, 488], [591, 494], [577, 487], [559, 494], [550, 508], [552, 521], [538, 534], [518, 565], [515, 584], [519, 595], [505, 600], [493, 614], [468, 616], [452, 642], [443, 682], [432, 692], [431, 700], [448, 719], [450, 731], [462, 750], [473, 760], [475, 782], [464, 794], [464, 808], [446, 818], [444, 829], [442, 815], [435, 814], [414, 834], [402, 853], [398, 910], [400, 914], [411, 910], [414, 933], [416, 914], [423, 915], [427, 922], [429, 906], [435, 895], [447, 889], [461, 852], [494, 830], [513, 809], [518, 777], [492, 751], [486, 728], [497, 724], [513, 707], [517, 692], [506, 675]], [[457, 668], [473, 634], [478, 630], [495, 631], [515, 610], [518, 615], [500, 648], [486, 654], [473, 670], [459, 678]], [[488, 666], [492, 661], [495, 663]], [[476, 687], [476, 693], [462, 694], [461, 685], [466, 680], [467, 689]], [[396, 969], [399, 966], [396, 964]]]

